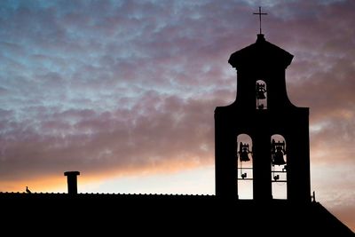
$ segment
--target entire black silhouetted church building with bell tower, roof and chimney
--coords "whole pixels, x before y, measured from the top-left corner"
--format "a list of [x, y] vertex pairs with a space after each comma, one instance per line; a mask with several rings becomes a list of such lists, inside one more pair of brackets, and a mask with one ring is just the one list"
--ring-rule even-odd
[[[77, 194], [80, 173], [67, 171], [68, 194], [0, 193], [3, 232], [16, 224], [18, 234], [51, 230], [46, 236], [354, 236], [311, 201], [309, 110], [292, 105], [286, 92], [292, 58], [259, 34], [229, 59], [237, 99], [215, 111], [216, 195]], [[239, 199], [238, 182], [252, 183], [252, 199]], [[273, 198], [275, 183], [287, 186], [287, 199]]]

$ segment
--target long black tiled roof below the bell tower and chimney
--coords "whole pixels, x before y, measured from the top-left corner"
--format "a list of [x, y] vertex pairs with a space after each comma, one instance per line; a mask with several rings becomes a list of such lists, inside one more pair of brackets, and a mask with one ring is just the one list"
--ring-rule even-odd
[[319, 202], [222, 201], [215, 195], [0, 193], [0, 208], [3, 226], [52, 223], [55, 230], [74, 229], [80, 236], [93, 230], [154, 236], [354, 236]]

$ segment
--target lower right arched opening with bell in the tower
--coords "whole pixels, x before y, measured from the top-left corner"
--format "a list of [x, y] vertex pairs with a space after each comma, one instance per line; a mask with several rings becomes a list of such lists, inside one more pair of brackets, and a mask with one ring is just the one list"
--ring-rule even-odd
[[272, 197], [274, 199], [288, 198], [287, 178], [287, 146], [286, 140], [280, 134], [272, 135], [271, 165], [272, 165]]

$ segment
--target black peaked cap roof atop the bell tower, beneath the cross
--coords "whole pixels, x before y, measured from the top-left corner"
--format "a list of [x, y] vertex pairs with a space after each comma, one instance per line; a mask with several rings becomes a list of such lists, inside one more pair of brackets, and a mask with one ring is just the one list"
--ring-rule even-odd
[[283, 67], [285, 69], [293, 57], [288, 51], [266, 41], [263, 34], [258, 34], [256, 43], [233, 52], [228, 62], [237, 70], [241, 67]]

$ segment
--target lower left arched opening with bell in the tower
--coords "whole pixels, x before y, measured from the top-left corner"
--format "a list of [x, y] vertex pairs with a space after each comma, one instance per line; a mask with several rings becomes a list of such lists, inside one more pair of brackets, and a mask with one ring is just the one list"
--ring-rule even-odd
[[253, 141], [247, 134], [237, 137], [238, 197], [253, 199]]

